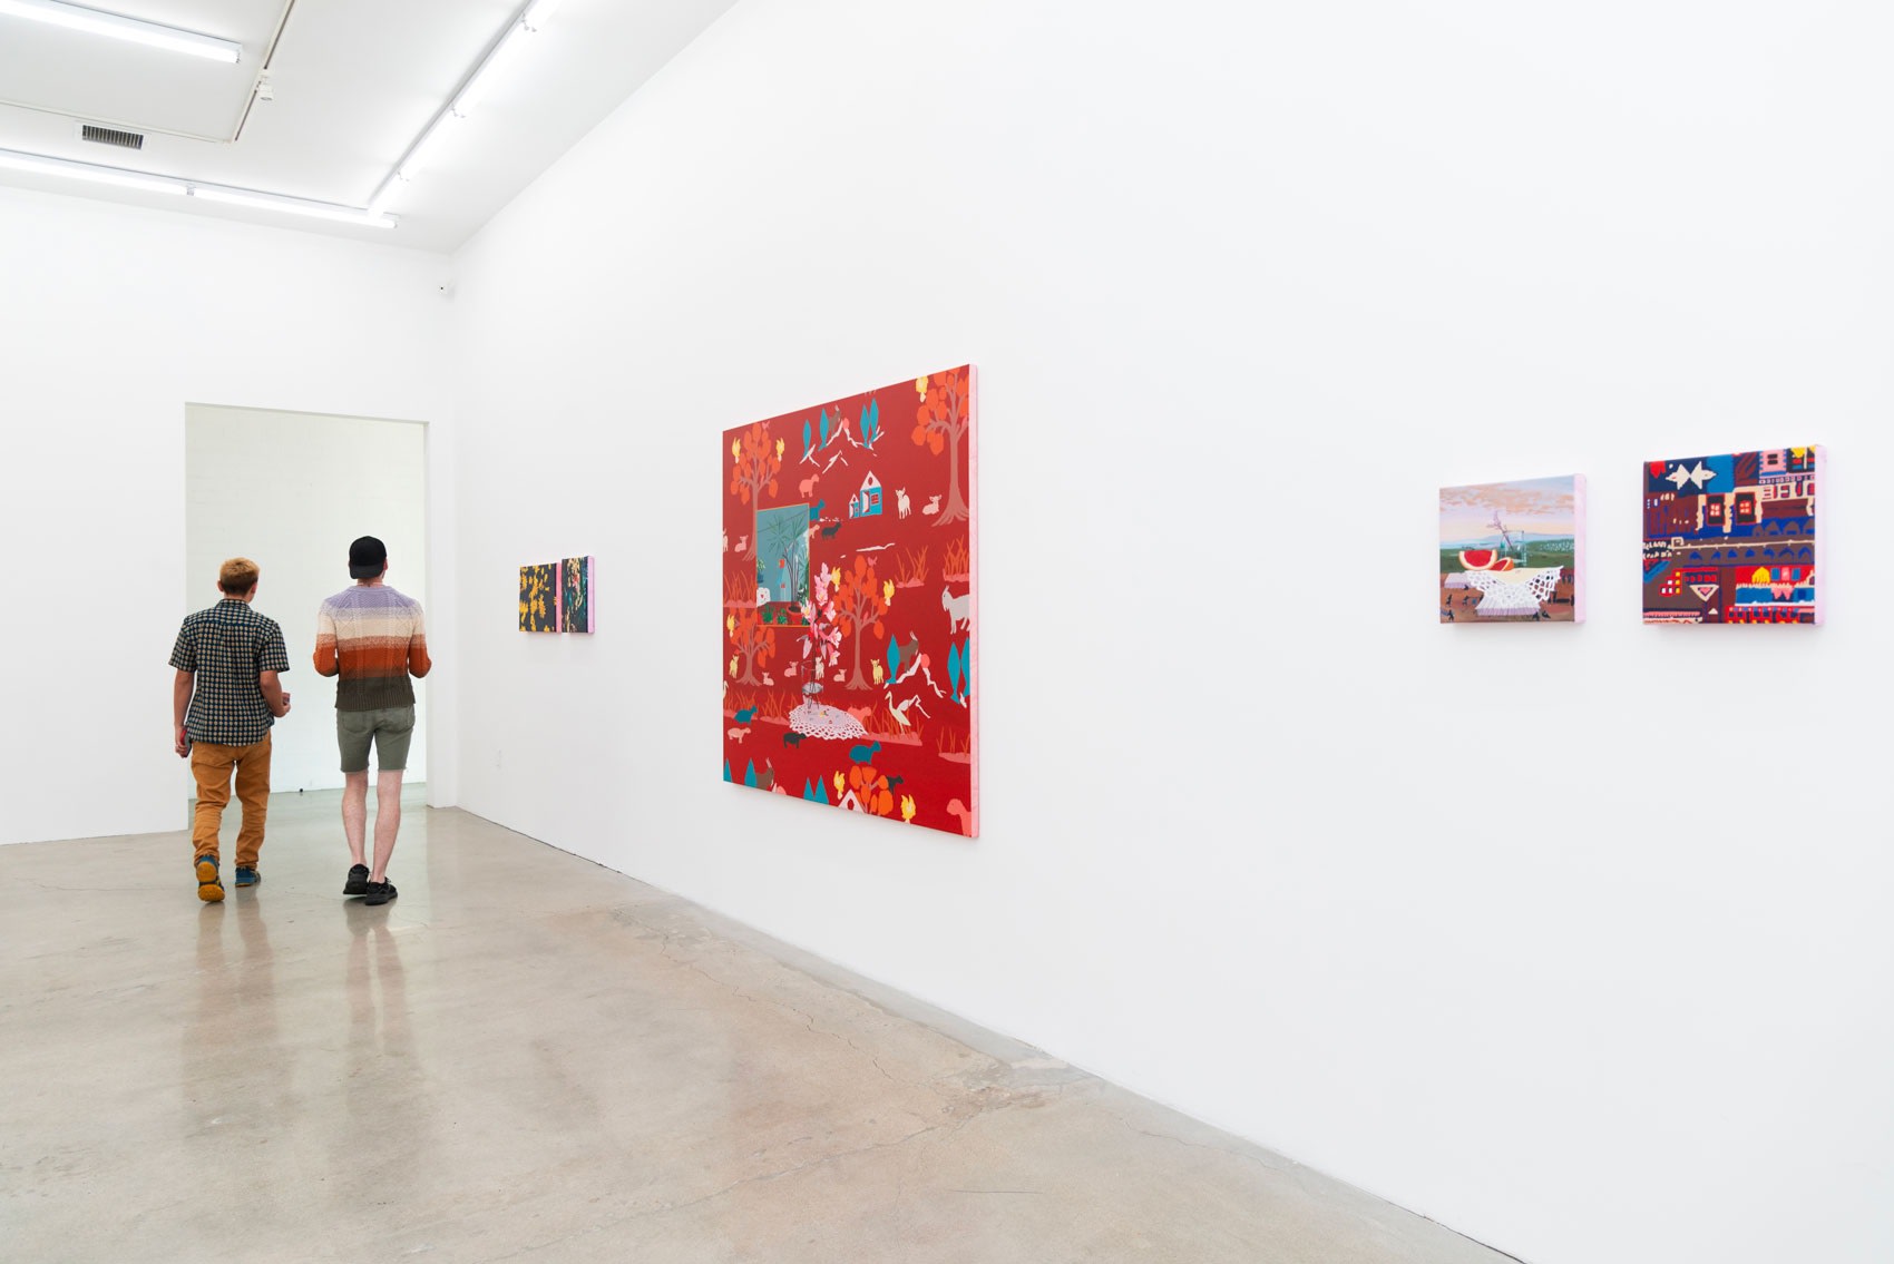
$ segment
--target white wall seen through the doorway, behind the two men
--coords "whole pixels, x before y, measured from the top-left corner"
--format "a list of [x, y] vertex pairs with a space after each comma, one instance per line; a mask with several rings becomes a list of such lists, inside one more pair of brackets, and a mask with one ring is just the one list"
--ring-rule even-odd
[[[256, 609], [282, 624], [290, 651], [290, 721], [271, 742], [277, 793], [341, 789], [335, 677], [316, 676], [316, 609], [348, 577], [348, 543], [388, 547], [386, 583], [428, 606], [428, 428], [362, 416], [189, 405], [186, 431], [186, 570], [182, 609], [218, 600], [218, 566], [250, 556], [263, 568]], [[409, 781], [428, 768], [428, 681], [415, 681]]]

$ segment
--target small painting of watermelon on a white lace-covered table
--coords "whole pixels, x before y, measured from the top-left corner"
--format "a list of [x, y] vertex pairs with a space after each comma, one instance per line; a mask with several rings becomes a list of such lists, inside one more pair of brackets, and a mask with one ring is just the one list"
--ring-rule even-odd
[[1585, 475], [1439, 490], [1439, 621], [1585, 621]]

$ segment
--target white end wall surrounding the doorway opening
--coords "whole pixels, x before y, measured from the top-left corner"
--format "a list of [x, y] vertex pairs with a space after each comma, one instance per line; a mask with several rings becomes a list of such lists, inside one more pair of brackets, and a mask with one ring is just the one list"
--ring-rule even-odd
[[[186, 613], [186, 405], [445, 422], [443, 274], [443, 257], [396, 246], [0, 189], [0, 539], [15, 575], [0, 842], [184, 825], [167, 660]], [[451, 600], [451, 433], [432, 430], [432, 596]], [[443, 649], [432, 710], [451, 734]], [[292, 670], [290, 693], [313, 676]], [[313, 711], [284, 723], [333, 730]], [[434, 759], [451, 764], [443, 746]], [[451, 776], [430, 795], [451, 800]]]

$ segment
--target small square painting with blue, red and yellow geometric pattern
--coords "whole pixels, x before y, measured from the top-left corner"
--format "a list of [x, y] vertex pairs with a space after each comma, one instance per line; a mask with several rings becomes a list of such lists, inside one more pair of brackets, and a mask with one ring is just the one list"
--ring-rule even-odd
[[1822, 623], [1820, 447], [1644, 464], [1644, 623]]

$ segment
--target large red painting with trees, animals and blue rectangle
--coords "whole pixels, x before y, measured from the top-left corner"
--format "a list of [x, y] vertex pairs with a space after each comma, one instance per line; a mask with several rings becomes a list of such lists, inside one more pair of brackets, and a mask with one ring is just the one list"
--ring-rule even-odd
[[979, 833], [974, 367], [724, 431], [724, 780]]

